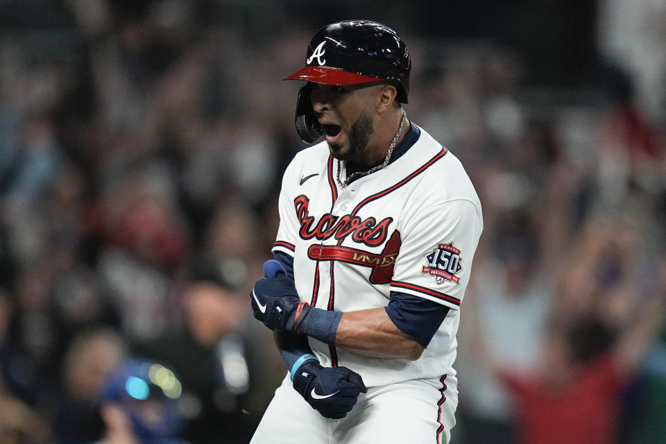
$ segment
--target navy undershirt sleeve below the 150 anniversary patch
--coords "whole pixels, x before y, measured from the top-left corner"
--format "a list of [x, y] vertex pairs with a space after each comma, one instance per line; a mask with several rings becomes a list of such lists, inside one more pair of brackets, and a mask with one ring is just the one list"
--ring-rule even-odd
[[448, 312], [446, 305], [399, 291], [391, 291], [386, 306], [386, 314], [395, 326], [423, 347], [430, 343]]

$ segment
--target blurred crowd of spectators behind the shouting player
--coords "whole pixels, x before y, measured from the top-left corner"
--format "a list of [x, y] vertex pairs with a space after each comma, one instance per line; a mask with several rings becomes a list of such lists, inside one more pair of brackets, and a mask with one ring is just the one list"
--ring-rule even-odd
[[348, 18], [407, 42], [407, 116], [484, 207], [453, 442], [536, 442], [590, 372], [583, 429], [666, 442], [666, 1], [358, 3], [0, 0], [0, 443], [248, 441], [285, 370], [247, 298], [305, 147], [281, 79]]

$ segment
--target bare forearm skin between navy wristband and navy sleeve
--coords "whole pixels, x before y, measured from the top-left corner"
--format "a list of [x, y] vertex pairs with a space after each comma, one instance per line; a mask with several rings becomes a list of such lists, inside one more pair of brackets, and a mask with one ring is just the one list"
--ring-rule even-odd
[[344, 313], [335, 345], [370, 357], [411, 360], [425, 350], [395, 326], [383, 307]]

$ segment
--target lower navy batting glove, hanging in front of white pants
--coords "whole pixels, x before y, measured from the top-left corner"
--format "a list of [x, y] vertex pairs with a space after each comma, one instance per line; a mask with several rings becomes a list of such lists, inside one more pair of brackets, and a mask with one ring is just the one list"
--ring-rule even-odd
[[322, 367], [317, 361], [305, 361], [293, 376], [293, 388], [321, 416], [340, 419], [347, 416], [359, 399], [368, 393], [361, 375], [346, 367]]

